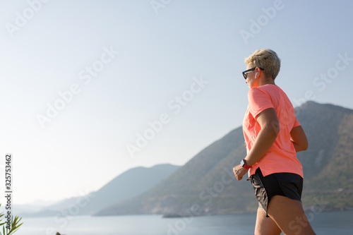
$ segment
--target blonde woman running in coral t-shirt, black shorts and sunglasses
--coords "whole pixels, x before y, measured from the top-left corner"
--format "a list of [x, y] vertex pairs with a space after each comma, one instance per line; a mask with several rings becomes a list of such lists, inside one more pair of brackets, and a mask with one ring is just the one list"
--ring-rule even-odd
[[280, 59], [271, 49], [245, 59], [249, 106], [243, 132], [246, 157], [233, 168], [241, 180], [249, 171], [259, 208], [255, 234], [315, 234], [301, 205], [303, 170], [296, 152], [308, 141], [285, 92], [275, 85]]

